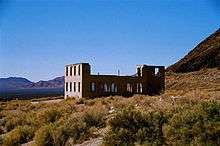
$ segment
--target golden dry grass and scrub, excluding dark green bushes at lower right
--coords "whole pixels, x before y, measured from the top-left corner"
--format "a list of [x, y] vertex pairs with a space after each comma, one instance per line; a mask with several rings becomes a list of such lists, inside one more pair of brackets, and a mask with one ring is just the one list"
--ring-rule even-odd
[[[172, 115], [181, 109], [210, 99], [217, 102], [220, 100], [219, 70], [209, 69], [185, 74], [169, 72], [166, 76], [166, 92], [158, 96], [134, 95], [130, 98], [110, 96], [80, 101], [69, 99], [57, 103], [39, 102], [38, 104], [32, 104], [33, 100], [0, 102], [0, 127], [1, 133], [6, 134], [9, 142], [11, 134], [17, 140], [16, 143], [31, 141], [33, 136], [28, 137], [27, 141], [23, 138], [19, 141], [21, 138], [13, 134], [22, 132], [18, 130], [21, 127], [31, 126], [33, 133], [30, 135], [35, 134], [35, 139], [39, 140], [39, 143], [44, 143], [49, 139], [51, 143], [71, 145], [81, 143], [91, 137], [99, 137], [100, 135], [95, 133], [99, 133], [98, 131], [106, 125], [108, 127], [108, 121], [127, 107], [144, 112], [157, 111]], [[74, 119], [80, 119], [80, 121], [74, 125], [70, 124], [71, 122], [68, 123]], [[80, 128], [83, 130], [79, 130]], [[78, 135], [73, 135], [69, 129], [75, 130]], [[40, 134], [42, 131], [43, 133], [46, 131], [45, 135]], [[56, 134], [61, 137], [57, 137]]]

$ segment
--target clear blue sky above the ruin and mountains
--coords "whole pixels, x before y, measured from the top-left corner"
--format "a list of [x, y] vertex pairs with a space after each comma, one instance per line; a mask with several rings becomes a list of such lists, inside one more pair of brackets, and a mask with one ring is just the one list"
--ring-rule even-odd
[[218, 0], [0, 0], [0, 77], [48, 80], [78, 62], [94, 74], [169, 66], [219, 27]]

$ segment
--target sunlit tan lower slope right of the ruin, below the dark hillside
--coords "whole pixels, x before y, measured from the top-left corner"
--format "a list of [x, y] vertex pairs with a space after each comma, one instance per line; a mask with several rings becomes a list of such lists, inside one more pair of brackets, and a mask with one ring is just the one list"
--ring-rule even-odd
[[220, 94], [220, 71], [217, 68], [189, 73], [166, 73], [166, 91], [203, 90]]

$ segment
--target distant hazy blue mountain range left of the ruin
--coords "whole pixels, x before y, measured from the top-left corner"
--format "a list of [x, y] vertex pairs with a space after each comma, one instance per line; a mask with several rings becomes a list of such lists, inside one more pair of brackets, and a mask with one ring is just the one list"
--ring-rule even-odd
[[48, 81], [31, 82], [21, 77], [0, 78], [0, 91], [13, 89], [48, 89], [63, 88], [64, 77], [57, 77]]

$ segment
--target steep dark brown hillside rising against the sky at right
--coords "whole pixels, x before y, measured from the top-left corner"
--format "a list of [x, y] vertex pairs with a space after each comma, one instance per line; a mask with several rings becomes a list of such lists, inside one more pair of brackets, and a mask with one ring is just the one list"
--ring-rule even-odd
[[220, 29], [167, 70], [184, 73], [214, 67], [220, 67]]

